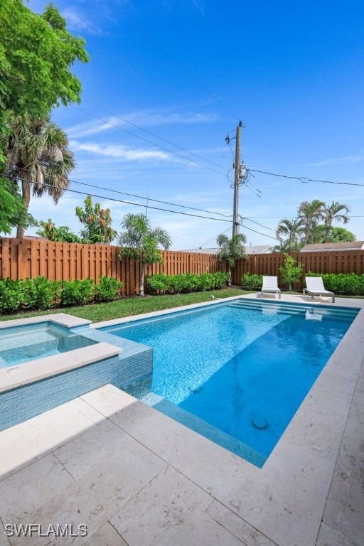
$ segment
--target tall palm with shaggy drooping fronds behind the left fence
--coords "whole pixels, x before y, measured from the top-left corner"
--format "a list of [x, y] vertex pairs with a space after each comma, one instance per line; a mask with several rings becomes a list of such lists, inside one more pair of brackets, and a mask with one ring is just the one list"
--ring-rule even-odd
[[[23, 204], [28, 210], [31, 194], [48, 193], [54, 203], [70, 185], [68, 175], [75, 168], [68, 137], [49, 117], [31, 119], [16, 116], [9, 124], [9, 134], [0, 135], [0, 146], [6, 156], [6, 174], [21, 184]], [[16, 238], [22, 239], [23, 225], [18, 225]]]

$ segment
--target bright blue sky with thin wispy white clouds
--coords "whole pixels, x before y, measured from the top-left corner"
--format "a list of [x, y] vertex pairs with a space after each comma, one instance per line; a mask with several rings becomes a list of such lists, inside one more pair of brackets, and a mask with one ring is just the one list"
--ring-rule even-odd
[[[45, 4], [28, 5], [41, 12]], [[75, 153], [71, 178], [148, 197], [149, 218], [170, 233], [173, 249], [213, 247], [220, 232], [231, 233], [218, 218], [232, 215], [233, 158], [225, 136], [234, 136], [240, 119], [247, 168], [364, 185], [360, 0], [55, 4], [91, 56], [73, 67], [81, 105], [53, 112]], [[271, 237], [279, 220], [315, 198], [350, 205], [345, 227], [364, 240], [364, 186], [252, 174], [254, 187], [240, 188], [240, 215], [250, 217], [240, 230], [248, 244], [276, 244]], [[111, 208], [117, 230], [124, 214], [146, 210], [143, 198], [77, 183], [70, 188], [101, 196], [94, 201]], [[74, 210], [84, 199], [65, 193], [53, 206], [49, 198], [32, 198], [30, 210], [38, 220], [50, 217], [78, 232]]]

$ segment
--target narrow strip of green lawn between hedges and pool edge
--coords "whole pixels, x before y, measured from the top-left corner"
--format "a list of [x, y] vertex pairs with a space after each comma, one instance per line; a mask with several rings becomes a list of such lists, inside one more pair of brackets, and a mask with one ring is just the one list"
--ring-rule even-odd
[[211, 301], [215, 298], [228, 298], [230, 296], [242, 296], [250, 294], [250, 290], [238, 288], [226, 288], [207, 292], [193, 292], [192, 294], [168, 294], [164, 296], [144, 296], [124, 298], [117, 301], [110, 301], [107, 304], [90, 304], [78, 307], [62, 307], [58, 309], [47, 309], [46, 311], [22, 311], [11, 315], [1, 315], [0, 321], [9, 319], [25, 319], [28, 316], [49, 315], [51, 313], [68, 313], [87, 319], [92, 322], [109, 321], [120, 319], [123, 316], [139, 315], [161, 309], [171, 309], [189, 304], [199, 304], [203, 301]]

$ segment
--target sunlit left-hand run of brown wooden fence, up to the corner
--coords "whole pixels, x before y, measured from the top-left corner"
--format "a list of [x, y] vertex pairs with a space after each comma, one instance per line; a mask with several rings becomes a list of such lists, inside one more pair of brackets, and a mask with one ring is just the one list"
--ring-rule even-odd
[[[164, 264], [146, 267], [146, 274], [214, 273], [219, 269], [215, 255], [194, 252], [162, 252]], [[123, 282], [124, 296], [139, 293], [140, 264], [119, 259], [119, 248], [48, 240], [0, 238], [0, 278], [26, 279], [43, 275], [50, 280], [114, 277]]]

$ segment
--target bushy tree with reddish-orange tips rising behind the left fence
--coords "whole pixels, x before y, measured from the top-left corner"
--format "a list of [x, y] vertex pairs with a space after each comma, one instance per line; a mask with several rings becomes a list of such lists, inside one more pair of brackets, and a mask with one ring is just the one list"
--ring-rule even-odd
[[85, 225], [85, 229], [80, 231], [82, 240], [90, 245], [109, 245], [117, 236], [117, 231], [111, 227], [110, 209], [101, 208], [100, 203], [93, 205], [91, 196], [87, 196], [84, 203], [84, 208], [75, 208], [78, 220]]

